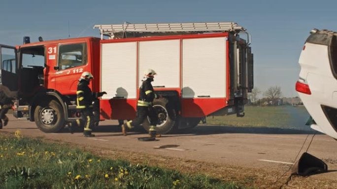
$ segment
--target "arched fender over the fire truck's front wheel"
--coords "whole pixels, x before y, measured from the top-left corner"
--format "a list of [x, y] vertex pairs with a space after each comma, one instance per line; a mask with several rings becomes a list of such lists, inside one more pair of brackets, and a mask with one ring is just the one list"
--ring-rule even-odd
[[48, 91], [47, 89], [39, 91], [30, 100], [31, 106], [29, 107], [29, 119], [31, 121], [34, 121], [34, 110], [35, 110], [35, 108], [32, 108], [32, 107], [35, 107], [34, 105], [36, 105], [37, 99], [40, 99], [43, 96], [53, 96], [53, 97], [55, 97], [60, 102], [60, 104], [61, 104], [61, 106], [63, 108], [63, 112], [65, 113], [65, 118], [67, 120], [67, 118], [68, 118], [68, 109], [67, 109], [66, 102], [64, 102], [64, 100], [62, 99], [62, 94], [59, 93], [58, 91]]

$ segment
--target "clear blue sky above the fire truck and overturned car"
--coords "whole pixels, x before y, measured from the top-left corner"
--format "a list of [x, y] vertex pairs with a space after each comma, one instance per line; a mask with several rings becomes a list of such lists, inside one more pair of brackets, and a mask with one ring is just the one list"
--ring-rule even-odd
[[312, 28], [337, 30], [337, 1], [313, 0], [1, 0], [0, 44], [97, 36], [96, 24], [236, 22], [252, 35], [255, 86], [294, 90], [298, 58]]

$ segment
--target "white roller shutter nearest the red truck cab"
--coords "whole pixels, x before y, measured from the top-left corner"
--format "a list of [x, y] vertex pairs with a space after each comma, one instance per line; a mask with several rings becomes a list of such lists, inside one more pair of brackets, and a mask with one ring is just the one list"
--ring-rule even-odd
[[101, 45], [102, 99], [136, 98], [137, 43], [103, 43]]

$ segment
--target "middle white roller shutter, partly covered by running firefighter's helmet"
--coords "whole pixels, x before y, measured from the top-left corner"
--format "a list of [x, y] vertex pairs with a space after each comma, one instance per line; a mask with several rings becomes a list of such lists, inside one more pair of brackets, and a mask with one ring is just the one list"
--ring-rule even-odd
[[158, 76], [153, 86], [179, 87], [180, 82], [180, 40], [139, 42], [139, 84], [144, 71], [153, 69]]

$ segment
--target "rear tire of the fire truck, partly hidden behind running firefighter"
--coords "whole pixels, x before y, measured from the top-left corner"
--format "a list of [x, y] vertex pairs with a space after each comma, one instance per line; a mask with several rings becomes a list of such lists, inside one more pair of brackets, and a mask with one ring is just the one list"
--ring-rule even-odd
[[[167, 134], [174, 130], [175, 126], [175, 110], [169, 107], [167, 98], [159, 98], [153, 101], [152, 106], [158, 114], [157, 134]], [[149, 131], [149, 117], [144, 120], [143, 128]]]

